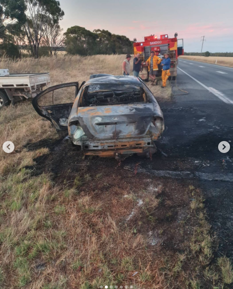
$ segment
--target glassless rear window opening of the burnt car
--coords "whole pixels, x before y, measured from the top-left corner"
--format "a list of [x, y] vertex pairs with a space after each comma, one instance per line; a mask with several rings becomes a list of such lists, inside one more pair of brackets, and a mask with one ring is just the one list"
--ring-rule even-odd
[[100, 85], [89, 85], [84, 89], [80, 106], [103, 106], [145, 102], [147, 102], [146, 93], [143, 88], [138, 86], [119, 85], [115, 87], [101, 87]]

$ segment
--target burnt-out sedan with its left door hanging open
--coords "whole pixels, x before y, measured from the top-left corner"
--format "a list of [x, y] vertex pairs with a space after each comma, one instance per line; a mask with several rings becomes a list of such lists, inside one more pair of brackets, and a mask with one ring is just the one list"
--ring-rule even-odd
[[[65, 88], [75, 91], [64, 93]], [[150, 157], [164, 130], [155, 96], [133, 76], [95, 74], [80, 86], [55, 85], [38, 94], [32, 105], [58, 132], [68, 131], [72, 143], [86, 155]]]

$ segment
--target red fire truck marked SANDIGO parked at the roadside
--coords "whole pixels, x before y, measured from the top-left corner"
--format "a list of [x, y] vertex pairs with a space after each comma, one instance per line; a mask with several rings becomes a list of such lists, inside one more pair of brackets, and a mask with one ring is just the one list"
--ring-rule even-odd
[[[157, 38], [156, 35], [150, 35], [144, 37], [143, 42], [137, 42], [134, 38], [134, 55], [140, 53], [142, 60], [143, 71], [140, 72], [140, 77], [145, 81], [149, 80], [149, 72], [147, 66], [147, 60], [151, 55], [151, 51], [155, 51], [158, 57], [163, 58], [164, 53], [168, 53], [171, 59], [170, 73], [172, 79], [175, 79], [177, 75], [178, 57], [184, 55], [183, 39], [177, 39], [177, 33], [174, 38], [169, 38], [167, 34], [160, 35]], [[162, 66], [158, 66], [158, 75], [161, 75]]]

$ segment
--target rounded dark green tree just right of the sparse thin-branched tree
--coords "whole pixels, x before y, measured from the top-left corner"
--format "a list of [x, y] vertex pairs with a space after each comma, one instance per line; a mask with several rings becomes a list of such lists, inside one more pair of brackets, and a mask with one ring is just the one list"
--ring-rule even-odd
[[70, 54], [96, 54], [96, 39], [98, 35], [80, 26], [73, 26], [64, 33], [67, 52]]

